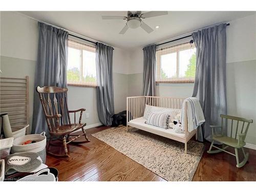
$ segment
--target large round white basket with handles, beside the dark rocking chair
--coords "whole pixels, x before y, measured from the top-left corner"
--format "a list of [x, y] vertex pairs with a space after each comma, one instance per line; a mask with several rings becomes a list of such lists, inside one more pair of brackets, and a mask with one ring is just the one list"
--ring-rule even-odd
[[[46, 162], [46, 136], [45, 132], [41, 134], [31, 134], [18, 137], [13, 140], [12, 153], [22, 153], [22, 152], [34, 152], [37, 153], [42, 159], [42, 163]], [[35, 143], [30, 143], [23, 145], [25, 141], [32, 140]]]

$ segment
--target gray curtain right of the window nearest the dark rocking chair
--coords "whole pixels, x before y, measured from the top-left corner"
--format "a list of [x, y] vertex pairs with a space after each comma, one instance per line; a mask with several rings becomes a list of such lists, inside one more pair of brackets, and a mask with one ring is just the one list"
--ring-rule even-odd
[[114, 114], [113, 47], [97, 42], [96, 71], [99, 120], [104, 125], [111, 125], [111, 116]]

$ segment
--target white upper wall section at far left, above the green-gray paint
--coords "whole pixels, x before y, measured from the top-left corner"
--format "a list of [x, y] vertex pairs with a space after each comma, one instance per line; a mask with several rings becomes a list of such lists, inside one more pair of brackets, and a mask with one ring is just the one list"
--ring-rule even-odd
[[1, 55], [36, 60], [37, 22], [16, 12], [2, 11]]

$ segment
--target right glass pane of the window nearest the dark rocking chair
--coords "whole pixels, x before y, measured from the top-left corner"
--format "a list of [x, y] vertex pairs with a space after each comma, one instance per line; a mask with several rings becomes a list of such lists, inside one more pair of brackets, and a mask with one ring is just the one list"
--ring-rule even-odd
[[83, 50], [82, 81], [96, 83], [96, 53]]

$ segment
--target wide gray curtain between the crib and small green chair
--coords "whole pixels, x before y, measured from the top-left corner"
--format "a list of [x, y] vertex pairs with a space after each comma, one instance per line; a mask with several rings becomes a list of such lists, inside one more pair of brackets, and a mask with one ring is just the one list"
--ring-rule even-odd
[[[209, 125], [220, 125], [226, 106], [226, 24], [202, 29], [192, 34], [197, 48], [197, 67], [193, 97], [202, 106], [205, 123], [203, 138], [211, 141]], [[226, 132], [226, 130], [224, 130]], [[203, 140], [200, 138], [199, 140]]]

